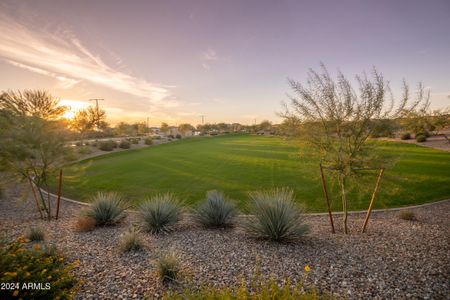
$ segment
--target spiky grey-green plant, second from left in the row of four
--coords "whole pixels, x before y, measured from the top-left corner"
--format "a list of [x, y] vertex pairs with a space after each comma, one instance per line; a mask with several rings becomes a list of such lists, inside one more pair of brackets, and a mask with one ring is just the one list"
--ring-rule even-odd
[[153, 234], [168, 233], [180, 220], [181, 205], [172, 194], [167, 193], [156, 195], [142, 203], [139, 212], [146, 231]]

